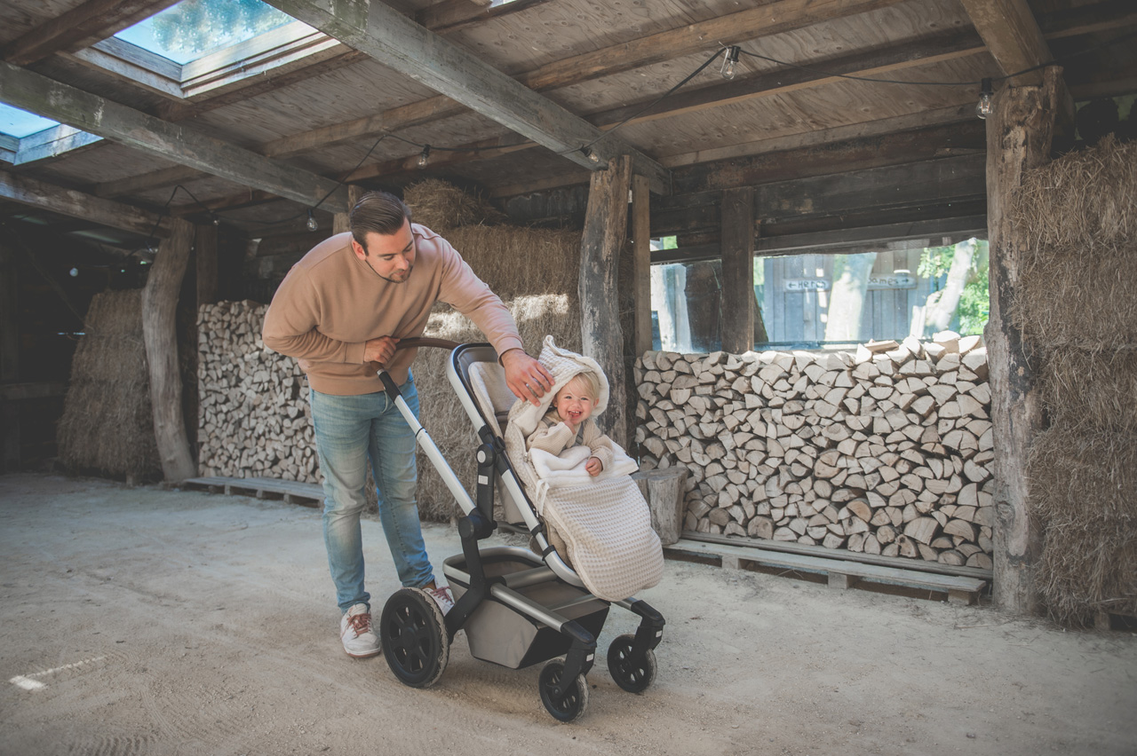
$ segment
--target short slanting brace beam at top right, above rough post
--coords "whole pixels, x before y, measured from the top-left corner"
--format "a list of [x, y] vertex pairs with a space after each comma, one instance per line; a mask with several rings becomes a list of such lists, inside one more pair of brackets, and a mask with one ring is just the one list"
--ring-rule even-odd
[[[962, 0], [976, 31], [1007, 76], [1051, 60], [1051, 51], [1027, 0]], [[1043, 72], [1015, 76], [1012, 84], [1040, 84]]]

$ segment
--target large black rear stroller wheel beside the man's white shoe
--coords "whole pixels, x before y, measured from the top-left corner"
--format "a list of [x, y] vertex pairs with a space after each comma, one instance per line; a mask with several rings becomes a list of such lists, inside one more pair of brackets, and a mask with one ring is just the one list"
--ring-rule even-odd
[[430, 688], [450, 661], [442, 611], [420, 588], [401, 588], [387, 599], [379, 641], [391, 672], [412, 688]]

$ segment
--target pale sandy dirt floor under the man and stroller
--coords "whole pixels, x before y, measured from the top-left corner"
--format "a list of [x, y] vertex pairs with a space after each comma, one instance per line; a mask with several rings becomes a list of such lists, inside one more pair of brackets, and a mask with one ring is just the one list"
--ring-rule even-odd
[[[425, 534], [441, 572], [457, 535]], [[381, 607], [377, 521], [364, 539]], [[0, 548], [6, 755], [1137, 754], [1129, 632], [669, 560], [641, 596], [667, 619], [656, 683], [612, 681], [604, 652], [636, 624], [614, 608], [588, 712], [559, 724], [540, 665], [460, 635], [428, 690], [346, 656], [313, 509], [9, 474]]]

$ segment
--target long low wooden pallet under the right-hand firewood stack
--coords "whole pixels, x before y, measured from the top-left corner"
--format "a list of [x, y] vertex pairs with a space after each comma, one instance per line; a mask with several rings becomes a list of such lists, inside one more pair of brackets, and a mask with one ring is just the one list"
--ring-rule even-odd
[[947, 594], [953, 604], [974, 604], [987, 586], [986, 580], [951, 574], [905, 570], [879, 564], [864, 564], [840, 558], [825, 558], [805, 554], [791, 554], [760, 548], [756, 546], [731, 546], [680, 539], [664, 547], [664, 553], [674, 556], [716, 558], [723, 568], [742, 569], [748, 564], [764, 568], [792, 570], [823, 574], [831, 588], [852, 588], [860, 581], [879, 582], [907, 588], [920, 588]]

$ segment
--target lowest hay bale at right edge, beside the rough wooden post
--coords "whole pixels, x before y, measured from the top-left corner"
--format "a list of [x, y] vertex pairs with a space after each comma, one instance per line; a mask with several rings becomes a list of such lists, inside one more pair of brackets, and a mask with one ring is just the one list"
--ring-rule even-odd
[[1036, 437], [1027, 477], [1051, 616], [1085, 627], [1098, 611], [1137, 615], [1137, 437], [1052, 427]]

